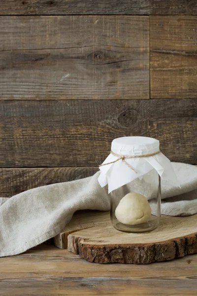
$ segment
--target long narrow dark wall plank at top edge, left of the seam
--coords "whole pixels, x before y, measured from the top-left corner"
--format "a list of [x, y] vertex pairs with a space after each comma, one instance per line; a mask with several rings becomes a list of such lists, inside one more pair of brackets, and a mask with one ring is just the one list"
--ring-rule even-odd
[[1, 0], [0, 15], [149, 14], [149, 0]]

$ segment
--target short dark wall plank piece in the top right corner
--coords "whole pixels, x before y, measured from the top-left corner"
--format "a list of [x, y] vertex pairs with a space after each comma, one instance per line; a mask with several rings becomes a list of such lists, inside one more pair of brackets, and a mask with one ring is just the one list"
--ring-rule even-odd
[[197, 1], [150, 0], [150, 14], [197, 14]]

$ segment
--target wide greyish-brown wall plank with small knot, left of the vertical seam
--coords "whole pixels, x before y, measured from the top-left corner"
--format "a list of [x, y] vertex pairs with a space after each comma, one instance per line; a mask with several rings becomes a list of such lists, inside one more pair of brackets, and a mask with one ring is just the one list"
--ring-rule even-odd
[[149, 17], [2, 16], [0, 39], [0, 99], [149, 99]]

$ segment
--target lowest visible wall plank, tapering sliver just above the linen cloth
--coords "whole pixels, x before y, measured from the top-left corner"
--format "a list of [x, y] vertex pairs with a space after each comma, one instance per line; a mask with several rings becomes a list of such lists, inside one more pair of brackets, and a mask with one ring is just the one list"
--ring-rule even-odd
[[93, 176], [98, 167], [0, 169], [0, 196], [10, 197], [35, 187]]

